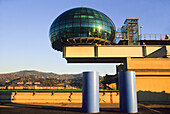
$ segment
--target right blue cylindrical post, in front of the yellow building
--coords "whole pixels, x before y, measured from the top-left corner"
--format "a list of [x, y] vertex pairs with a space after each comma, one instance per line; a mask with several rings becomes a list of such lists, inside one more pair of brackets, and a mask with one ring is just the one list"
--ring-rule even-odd
[[120, 112], [137, 113], [136, 77], [134, 71], [119, 72]]

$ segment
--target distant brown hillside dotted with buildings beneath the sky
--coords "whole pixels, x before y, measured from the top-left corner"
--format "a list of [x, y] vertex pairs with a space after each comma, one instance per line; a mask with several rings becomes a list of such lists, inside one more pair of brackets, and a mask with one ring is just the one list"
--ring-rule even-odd
[[[102, 77], [100, 77], [102, 80]], [[56, 74], [24, 70], [14, 73], [0, 74], [0, 85], [16, 85], [17, 82], [41, 82], [42, 85], [56, 85], [60, 83], [82, 83], [82, 74]], [[80, 84], [81, 85], [81, 84]]]

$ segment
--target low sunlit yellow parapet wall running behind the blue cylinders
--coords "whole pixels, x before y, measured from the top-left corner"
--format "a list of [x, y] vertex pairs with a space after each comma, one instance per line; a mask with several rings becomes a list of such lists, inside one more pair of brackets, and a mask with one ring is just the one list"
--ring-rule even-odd
[[[99, 94], [100, 103], [119, 103], [115, 92]], [[81, 92], [8, 92], [0, 93], [0, 103], [82, 103]]]

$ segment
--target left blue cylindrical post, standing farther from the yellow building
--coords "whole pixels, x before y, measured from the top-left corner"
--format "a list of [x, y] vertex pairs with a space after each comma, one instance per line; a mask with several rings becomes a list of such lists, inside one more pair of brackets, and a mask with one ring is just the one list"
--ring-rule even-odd
[[83, 72], [83, 104], [85, 113], [99, 112], [99, 73]]

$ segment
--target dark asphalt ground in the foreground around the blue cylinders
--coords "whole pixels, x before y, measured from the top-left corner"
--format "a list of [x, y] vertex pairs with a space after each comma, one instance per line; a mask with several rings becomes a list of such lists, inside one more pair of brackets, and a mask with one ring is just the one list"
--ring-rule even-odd
[[[170, 114], [170, 105], [138, 105], [139, 114]], [[0, 104], [0, 114], [84, 114], [82, 104]], [[87, 113], [85, 113], [87, 114]], [[119, 104], [100, 104], [99, 114], [121, 114]]]

